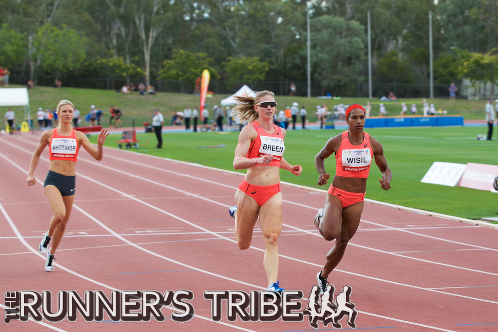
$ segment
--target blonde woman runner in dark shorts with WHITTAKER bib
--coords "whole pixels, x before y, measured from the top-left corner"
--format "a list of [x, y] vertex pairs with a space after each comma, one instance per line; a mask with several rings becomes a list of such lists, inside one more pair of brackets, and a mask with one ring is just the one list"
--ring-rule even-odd
[[[83, 146], [92, 157], [96, 160], [101, 160], [103, 143], [109, 135], [107, 130], [103, 129], [97, 138], [98, 149], [95, 149], [85, 134], [71, 127], [73, 111], [74, 105], [71, 101], [60, 100], [56, 111], [59, 117], [59, 125], [54, 129], [43, 132], [29, 165], [27, 181], [28, 185], [34, 185], [36, 183], [33, 176], [34, 170], [40, 159], [41, 152], [46, 146], [49, 146], [50, 166], [43, 191], [49, 200], [54, 215], [50, 221], [49, 230], [41, 240], [38, 248], [41, 254], [47, 254], [47, 262], [45, 263], [45, 271], [47, 272], [54, 269], [55, 250], [64, 235], [73, 207], [76, 190], [75, 166], [79, 148]], [[50, 242], [52, 242], [52, 245], [49, 250]]]

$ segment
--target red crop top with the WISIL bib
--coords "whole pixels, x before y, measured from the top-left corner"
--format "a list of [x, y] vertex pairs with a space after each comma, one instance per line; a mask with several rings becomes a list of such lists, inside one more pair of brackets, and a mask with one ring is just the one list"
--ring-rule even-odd
[[342, 133], [341, 147], [336, 152], [336, 175], [367, 178], [374, 155], [370, 146], [370, 135], [364, 132], [363, 143], [355, 146], [349, 142], [347, 133]]

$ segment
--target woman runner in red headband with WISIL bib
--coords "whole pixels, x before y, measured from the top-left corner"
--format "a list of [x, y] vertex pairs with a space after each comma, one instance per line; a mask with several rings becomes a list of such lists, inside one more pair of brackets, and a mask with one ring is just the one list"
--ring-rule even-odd
[[335, 246], [327, 254], [325, 266], [317, 274], [321, 294], [327, 289], [328, 275], [341, 261], [347, 242], [355, 235], [360, 224], [373, 156], [382, 172], [382, 180], [379, 179], [381, 188], [391, 188], [391, 170], [387, 166], [382, 144], [363, 131], [365, 109], [358, 104], [349, 106], [346, 122], [349, 130], [330, 138], [315, 157], [315, 166], [320, 174], [318, 184], [324, 185], [330, 177], [325, 172], [324, 160], [333, 153], [336, 155], [336, 176], [328, 189], [325, 209], [318, 210], [315, 217], [315, 225], [325, 240], [336, 240]]

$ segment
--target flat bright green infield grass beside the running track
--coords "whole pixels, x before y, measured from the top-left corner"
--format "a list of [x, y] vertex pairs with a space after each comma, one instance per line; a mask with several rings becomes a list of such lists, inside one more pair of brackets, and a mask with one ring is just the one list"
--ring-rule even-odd
[[[372, 164], [366, 197], [469, 219], [496, 216], [496, 194], [420, 182], [434, 161], [498, 164], [498, 141], [475, 139], [483, 130], [479, 127], [368, 129], [368, 133], [383, 144], [387, 162], [392, 170], [392, 188], [387, 192], [380, 188], [378, 179], [381, 174], [376, 165]], [[287, 131], [285, 159], [292, 164], [301, 164], [303, 173], [296, 177], [281, 171], [281, 180], [328, 189], [316, 184], [318, 173], [314, 158], [327, 139], [340, 132], [341, 130]], [[138, 134], [140, 149], [134, 151], [233, 170], [237, 138], [238, 132], [163, 134], [163, 149], [158, 150], [155, 149], [157, 140], [153, 133]], [[91, 139], [95, 141], [96, 136], [93, 135]], [[116, 135], [110, 136], [106, 145], [117, 147], [115, 141], [118, 139]], [[220, 145], [225, 147], [203, 148]], [[333, 156], [326, 160], [326, 170], [334, 176]]]

